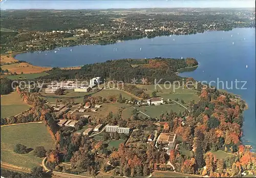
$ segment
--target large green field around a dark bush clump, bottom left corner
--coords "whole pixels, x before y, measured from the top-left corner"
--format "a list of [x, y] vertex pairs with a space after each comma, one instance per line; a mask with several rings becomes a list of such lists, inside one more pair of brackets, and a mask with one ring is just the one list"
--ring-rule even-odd
[[42, 159], [34, 157], [33, 151], [27, 154], [13, 152], [17, 143], [33, 149], [44, 146], [48, 150], [54, 146], [54, 141], [42, 123], [1, 126], [1, 161], [26, 168], [40, 165]]

